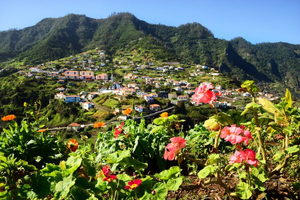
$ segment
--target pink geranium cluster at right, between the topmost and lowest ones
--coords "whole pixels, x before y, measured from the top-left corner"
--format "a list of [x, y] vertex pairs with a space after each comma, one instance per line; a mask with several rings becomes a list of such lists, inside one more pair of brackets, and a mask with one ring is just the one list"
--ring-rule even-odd
[[[244, 126], [241, 126], [244, 128]], [[243, 135], [240, 135], [240, 134]], [[235, 124], [229, 126], [225, 126], [221, 130], [221, 138], [224, 138], [225, 141], [230, 141], [232, 144], [238, 144], [241, 142], [245, 142], [247, 145], [249, 142], [249, 139], [253, 139], [251, 136], [251, 132], [249, 130], [244, 130], [240, 127], [237, 127]]]

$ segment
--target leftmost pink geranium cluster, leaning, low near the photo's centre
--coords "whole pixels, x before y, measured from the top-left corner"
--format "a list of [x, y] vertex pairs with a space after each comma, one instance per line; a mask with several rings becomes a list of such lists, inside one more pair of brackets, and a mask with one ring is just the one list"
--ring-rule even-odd
[[172, 137], [170, 141], [171, 143], [168, 143], [164, 149], [163, 158], [165, 160], [173, 160], [175, 155], [177, 155], [180, 149], [186, 144], [185, 139], [182, 137]]

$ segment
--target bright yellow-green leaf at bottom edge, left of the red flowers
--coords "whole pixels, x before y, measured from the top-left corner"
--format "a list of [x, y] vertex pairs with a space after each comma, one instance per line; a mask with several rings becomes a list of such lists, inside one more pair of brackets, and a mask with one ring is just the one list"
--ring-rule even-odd
[[55, 185], [54, 197], [63, 199], [69, 193], [71, 186], [75, 184], [75, 178], [72, 175], [63, 177], [63, 179]]

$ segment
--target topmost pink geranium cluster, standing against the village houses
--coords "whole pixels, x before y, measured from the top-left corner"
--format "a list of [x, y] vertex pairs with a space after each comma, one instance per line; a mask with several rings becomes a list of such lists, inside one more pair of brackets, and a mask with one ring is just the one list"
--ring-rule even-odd
[[192, 100], [196, 102], [198, 105], [199, 102], [203, 103], [209, 103], [210, 105], [212, 104], [212, 101], [215, 101], [216, 95], [222, 95], [221, 92], [216, 92], [213, 93], [211, 90], [213, 89], [213, 85], [210, 83], [209, 85], [205, 84], [200, 84], [196, 89], [195, 89], [195, 94], [192, 95]]

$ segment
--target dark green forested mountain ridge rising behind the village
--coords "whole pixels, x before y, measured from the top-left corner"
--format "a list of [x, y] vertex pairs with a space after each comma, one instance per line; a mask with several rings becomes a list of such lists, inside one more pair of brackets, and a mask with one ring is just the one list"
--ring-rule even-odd
[[199, 23], [178, 27], [149, 24], [128, 12], [104, 19], [68, 14], [45, 18], [34, 26], [0, 31], [0, 60], [37, 64], [99, 47], [110, 55], [143, 46], [155, 56], [207, 64], [239, 80], [278, 82], [297, 94], [300, 45], [284, 42], [251, 44], [241, 37], [218, 39]]

